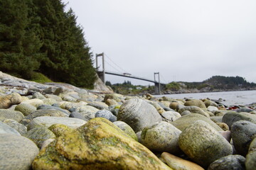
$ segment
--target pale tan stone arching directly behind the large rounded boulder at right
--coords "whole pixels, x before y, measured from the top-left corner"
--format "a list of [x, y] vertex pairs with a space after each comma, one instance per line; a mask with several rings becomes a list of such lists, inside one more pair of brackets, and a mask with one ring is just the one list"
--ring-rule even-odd
[[199, 114], [189, 114], [189, 115], [183, 115], [181, 118], [178, 118], [174, 122], [171, 123], [171, 125], [174, 125], [179, 130], [183, 131], [185, 130], [189, 125], [196, 122], [196, 120], [203, 120], [209, 125], [211, 125], [215, 130], [223, 131], [216, 123], [214, 123], [209, 118], [206, 118], [206, 116], [199, 115]]

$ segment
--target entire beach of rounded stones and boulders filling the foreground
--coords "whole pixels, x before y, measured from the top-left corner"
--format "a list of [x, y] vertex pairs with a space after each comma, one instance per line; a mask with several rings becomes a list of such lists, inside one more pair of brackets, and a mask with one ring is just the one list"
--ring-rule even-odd
[[0, 72], [0, 169], [256, 169], [256, 108]]

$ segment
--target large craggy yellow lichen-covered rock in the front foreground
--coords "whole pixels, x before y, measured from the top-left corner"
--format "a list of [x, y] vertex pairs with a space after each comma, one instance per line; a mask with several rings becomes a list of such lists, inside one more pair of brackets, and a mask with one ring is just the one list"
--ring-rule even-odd
[[105, 118], [63, 133], [41, 149], [33, 169], [170, 169]]

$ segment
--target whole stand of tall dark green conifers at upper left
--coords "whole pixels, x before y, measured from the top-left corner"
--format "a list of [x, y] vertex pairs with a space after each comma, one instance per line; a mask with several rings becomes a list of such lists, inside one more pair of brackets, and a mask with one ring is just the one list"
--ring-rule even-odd
[[0, 70], [92, 88], [92, 52], [75, 13], [64, 9], [60, 0], [0, 0]]

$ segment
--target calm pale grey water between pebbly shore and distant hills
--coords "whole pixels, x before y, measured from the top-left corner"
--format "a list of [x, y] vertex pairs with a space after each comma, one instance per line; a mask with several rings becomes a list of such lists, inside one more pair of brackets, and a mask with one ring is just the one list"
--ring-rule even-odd
[[[166, 96], [169, 98], [210, 98], [212, 100], [218, 100], [222, 98], [221, 103], [225, 105], [245, 105], [250, 103], [256, 103], [256, 91], [224, 91], [224, 92], [211, 92], [211, 93], [196, 93], [196, 94], [165, 94], [157, 96]], [[225, 100], [225, 101], [224, 101]]]

